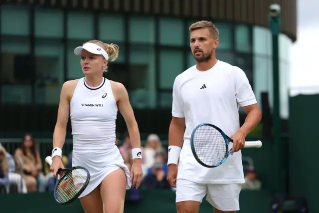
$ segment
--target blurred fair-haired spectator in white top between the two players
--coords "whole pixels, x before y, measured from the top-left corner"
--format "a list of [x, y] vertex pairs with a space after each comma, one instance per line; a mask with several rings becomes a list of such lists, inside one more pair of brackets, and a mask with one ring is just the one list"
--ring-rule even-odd
[[160, 142], [160, 137], [157, 134], [151, 134], [148, 136], [145, 148], [144, 148], [144, 155], [145, 155], [145, 165], [147, 168], [151, 168], [155, 162], [155, 154], [157, 150], [161, 150], [162, 145]]

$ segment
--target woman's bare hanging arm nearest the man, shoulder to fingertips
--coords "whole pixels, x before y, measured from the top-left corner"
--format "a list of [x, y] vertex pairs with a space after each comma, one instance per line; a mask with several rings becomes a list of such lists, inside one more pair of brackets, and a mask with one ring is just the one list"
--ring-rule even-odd
[[142, 181], [142, 150], [141, 150], [141, 138], [140, 138], [140, 131], [138, 127], [138, 123], [135, 120], [134, 112], [129, 100], [129, 94], [124, 87], [123, 84], [118, 82], [112, 82], [113, 86], [112, 89], [115, 93], [115, 97], [117, 100], [117, 106], [122, 114], [128, 132], [130, 134], [130, 140], [132, 143], [132, 158], [133, 158], [133, 165], [131, 169], [131, 180], [133, 179], [132, 186], [136, 186], [138, 188]]

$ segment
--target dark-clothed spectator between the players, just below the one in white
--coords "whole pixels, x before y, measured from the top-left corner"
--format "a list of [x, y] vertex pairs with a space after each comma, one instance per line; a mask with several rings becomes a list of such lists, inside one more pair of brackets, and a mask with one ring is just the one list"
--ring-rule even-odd
[[163, 171], [163, 163], [156, 161], [152, 166], [152, 173], [148, 174], [142, 184], [147, 189], [170, 189], [170, 185], [166, 180], [166, 175]]

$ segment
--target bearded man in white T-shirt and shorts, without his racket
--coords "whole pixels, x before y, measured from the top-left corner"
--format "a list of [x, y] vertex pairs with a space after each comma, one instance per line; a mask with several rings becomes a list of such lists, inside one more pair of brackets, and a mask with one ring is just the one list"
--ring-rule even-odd
[[[176, 187], [178, 213], [198, 213], [205, 195], [214, 213], [235, 213], [240, 184], [245, 183], [240, 150], [247, 134], [260, 122], [261, 112], [243, 70], [216, 59], [218, 29], [213, 23], [199, 21], [189, 31], [196, 65], [174, 81], [167, 180]], [[239, 106], [247, 113], [242, 127]], [[229, 146], [234, 153], [219, 167], [205, 168], [192, 155], [190, 136], [201, 123], [218, 126], [234, 140]]]

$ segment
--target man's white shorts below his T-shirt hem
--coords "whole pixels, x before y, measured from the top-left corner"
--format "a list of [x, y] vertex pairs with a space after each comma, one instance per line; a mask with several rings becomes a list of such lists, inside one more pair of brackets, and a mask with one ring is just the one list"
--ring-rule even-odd
[[184, 179], [176, 182], [176, 203], [206, 200], [220, 211], [239, 211], [240, 184], [199, 184]]

